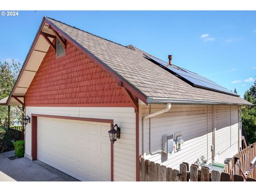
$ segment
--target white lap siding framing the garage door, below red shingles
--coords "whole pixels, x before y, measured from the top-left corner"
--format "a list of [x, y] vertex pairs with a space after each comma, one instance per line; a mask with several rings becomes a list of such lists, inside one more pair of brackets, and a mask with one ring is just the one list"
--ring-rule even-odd
[[[26, 107], [26, 115], [43, 114], [113, 119], [121, 127], [114, 144], [114, 181], [136, 180], [135, 113], [132, 107]], [[31, 156], [31, 130], [26, 126], [26, 155]], [[110, 142], [110, 141], [109, 141]]]

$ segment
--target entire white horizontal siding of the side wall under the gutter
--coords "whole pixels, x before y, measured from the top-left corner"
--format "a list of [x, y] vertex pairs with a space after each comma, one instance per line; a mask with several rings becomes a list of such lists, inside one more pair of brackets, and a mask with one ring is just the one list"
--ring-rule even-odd
[[[166, 105], [152, 105], [151, 113], [164, 109], [165, 107]], [[172, 105], [170, 111], [167, 113], [151, 118], [152, 152], [162, 149], [163, 134], [175, 134], [179, 132], [182, 134], [184, 143], [181, 146], [181, 150], [169, 155], [163, 153], [156, 155], [149, 154], [149, 119], [147, 119], [144, 126], [145, 158], [156, 163], [161, 163], [161, 165], [172, 167], [173, 169], [179, 169], [179, 165], [182, 162], [188, 162], [189, 164], [195, 163], [197, 158], [201, 156], [204, 156], [205, 159], [212, 162], [212, 107], [212, 105]], [[231, 108], [232, 110], [230, 111], [230, 106], [217, 106], [216, 114], [217, 134], [215, 138], [218, 145], [217, 151], [223, 152], [225, 149], [230, 149], [227, 155], [230, 155], [230, 153], [235, 155], [235, 153], [237, 153], [237, 148], [236, 150], [231, 149], [230, 145], [233, 139], [234, 143], [238, 140], [237, 131], [235, 135], [238, 108], [237, 106], [232, 106]], [[149, 106], [140, 105], [139, 111], [140, 118], [142, 118], [149, 114]], [[234, 129], [233, 126], [230, 127], [230, 114]], [[230, 135], [234, 135], [232, 140], [230, 140]], [[223, 138], [226, 138], [226, 140]], [[222, 155], [225, 156], [225, 153]], [[223, 160], [224, 159], [220, 158], [220, 163], [222, 163]]]

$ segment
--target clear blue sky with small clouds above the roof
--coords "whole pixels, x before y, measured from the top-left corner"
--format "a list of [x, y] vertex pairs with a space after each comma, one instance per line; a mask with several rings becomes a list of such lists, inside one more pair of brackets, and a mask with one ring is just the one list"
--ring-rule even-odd
[[0, 15], [0, 60], [23, 63], [44, 16], [119, 44], [132, 44], [244, 92], [256, 75], [255, 11], [19, 11]]

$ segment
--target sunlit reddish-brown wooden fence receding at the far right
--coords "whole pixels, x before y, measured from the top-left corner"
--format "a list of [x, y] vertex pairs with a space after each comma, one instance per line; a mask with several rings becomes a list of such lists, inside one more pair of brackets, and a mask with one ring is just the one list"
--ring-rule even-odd
[[[240, 174], [239, 166], [241, 170], [245, 173], [251, 167], [251, 162], [256, 156], [256, 143], [251, 144], [245, 149], [239, 151], [233, 158], [231, 158], [228, 166], [224, 170], [226, 173], [229, 173], [231, 176], [235, 174]], [[256, 166], [250, 171], [250, 177], [256, 179]]]

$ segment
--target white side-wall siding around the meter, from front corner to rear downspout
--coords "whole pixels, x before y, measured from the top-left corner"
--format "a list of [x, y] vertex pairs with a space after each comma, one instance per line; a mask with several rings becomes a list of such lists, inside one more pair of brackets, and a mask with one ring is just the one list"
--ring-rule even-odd
[[[165, 105], [152, 105], [151, 113], [165, 108]], [[211, 118], [209, 107], [208, 118]], [[140, 115], [149, 114], [149, 106], [140, 106]], [[162, 115], [151, 118], [151, 150], [152, 152], [162, 149], [162, 135], [181, 132], [184, 144], [181, 150], [169, 154], [149, 154], [149, 119], [146, 120], [145, 129], [145, 152], [146, 158], [156, 163], [161, 163], [174, 169], [179, 169], [179, 164], [188, 162], [195, 163], [197, 158], [207, 158], [207, 127], [208, 139], [211, 141], [212, 125], [207, 121], [207, 106], [203, 105], [172, 105], [171, 110]], [[211, 145], [211, 143], [209, 143]], [[210, 151], [209, 151], [210, 153]], [[211, 154], [209, 154], [211, 157]]]

